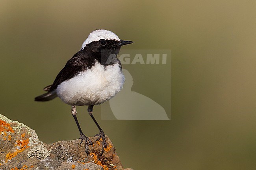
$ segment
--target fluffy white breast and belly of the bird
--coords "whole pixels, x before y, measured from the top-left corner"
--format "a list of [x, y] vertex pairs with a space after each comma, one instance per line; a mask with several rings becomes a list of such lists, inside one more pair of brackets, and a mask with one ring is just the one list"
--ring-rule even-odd
[[119, 64], [104, 67], [99, 62], [91, 69], [65, 80], [56, 89], [58, 97], [70, 105], [101, 104], [114, 97], [124, 84]]

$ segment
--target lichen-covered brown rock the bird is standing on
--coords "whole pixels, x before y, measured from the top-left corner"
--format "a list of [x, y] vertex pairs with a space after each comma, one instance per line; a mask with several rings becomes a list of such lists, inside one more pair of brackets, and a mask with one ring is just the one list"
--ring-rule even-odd
[[89, 138], [93, 146], [87, 156], [81, 139], [45, 144], [34, 130], [0, 114], [0, 170], [124, 170], [107, 136], [102, 155], [102, 143]]

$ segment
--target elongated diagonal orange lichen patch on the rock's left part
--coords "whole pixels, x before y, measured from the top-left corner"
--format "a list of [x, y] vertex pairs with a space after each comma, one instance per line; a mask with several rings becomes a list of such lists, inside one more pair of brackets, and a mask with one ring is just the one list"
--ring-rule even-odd
[[9, 152], [6, 155], [6, 163], [7, 163], [7, 161], [13, 159], [20, 152], [23, 152], [26, 148], [30, 147], [30, 146], [28, 146], [29, 139], [24, 139], [24, 137], [25, 137], [25, 133], [23, 133], [21, 135], [21, 139], [20, 140], [16, 141], [16, 143], [15, 143], [15, 146], [16, 146], [15, 152], [13, 152], [13, 153]]

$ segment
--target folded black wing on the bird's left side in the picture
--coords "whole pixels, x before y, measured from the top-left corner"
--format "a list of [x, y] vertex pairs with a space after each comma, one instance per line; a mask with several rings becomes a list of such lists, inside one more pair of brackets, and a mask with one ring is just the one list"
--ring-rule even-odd
[[78, 51], [78, 53], [76, 53], [72, 58], [70, 58], [65, 67], [59, 72], [52, 86], [50, 86], [49, 91], [55, 90], [57, 86], [61, 84], [61, 82], [71, 79], [79, 71], [91, 69], [91, 66], [93, 64], [94, 63], [91, 57], [85, 56], [83, 51]]

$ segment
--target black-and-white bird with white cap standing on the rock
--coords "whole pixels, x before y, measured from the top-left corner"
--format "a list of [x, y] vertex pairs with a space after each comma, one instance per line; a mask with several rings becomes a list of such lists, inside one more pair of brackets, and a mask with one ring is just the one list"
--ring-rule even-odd
[[133, 41], [121, 40], [115, 33], [96, 29], [82, 44], [82, 48], [70, 58], [59, 72], [53, 84], [46, 86], [46, 93], [35, 97], [35, 101], [45, 102], [59, 97], [71, 106], [80, 132], [80, 145], [85, 141], [85, 152], [89, 155], [92, 141], [82, 132], [76, 117], [76, 106], [88, 106], [87, 112], [98, 127], [96, 141], [102, 139], [102, 153], [107, 147], [105, 133], [93, 116], [93, 106], [113, 98], [124, 84], [122, 65], [117, 55], [121, 46]]

